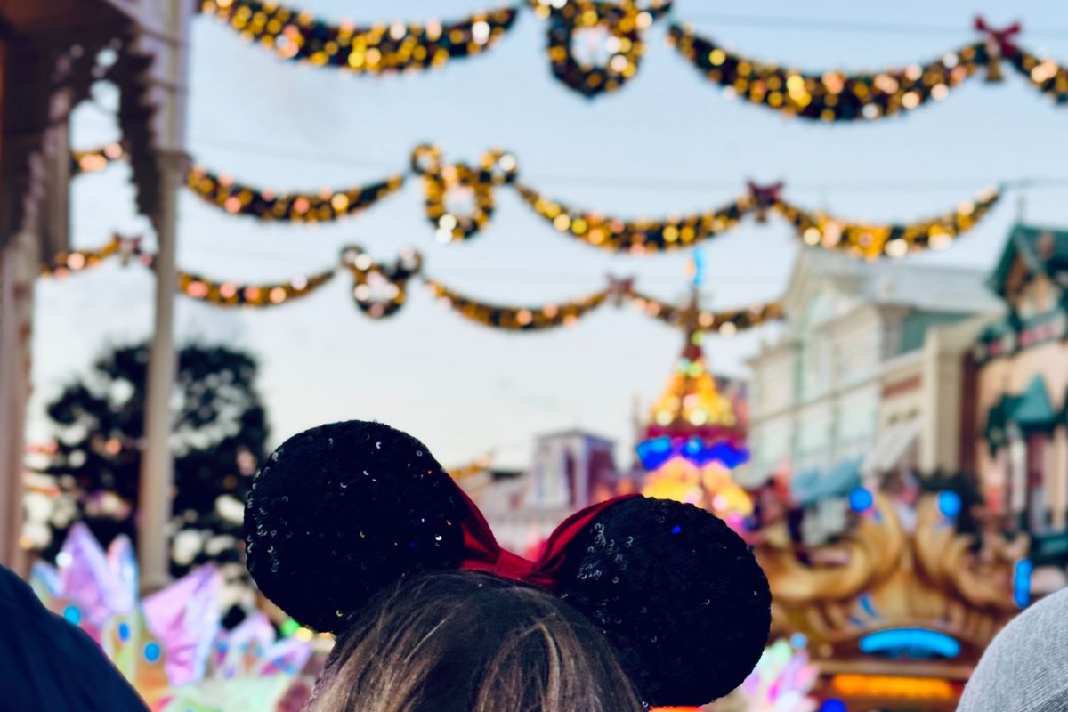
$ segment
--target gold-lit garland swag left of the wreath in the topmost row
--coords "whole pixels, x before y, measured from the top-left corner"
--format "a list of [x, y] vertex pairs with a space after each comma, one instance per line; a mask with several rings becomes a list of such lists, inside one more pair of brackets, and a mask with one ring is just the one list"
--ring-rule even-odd
[[279, 57], [357, 74], [383, 74], [439, 67], [450, 60], [492, 47], [515, 22], [517, 9], [501, 7], [461, 20], [423, 25], [331, 25], [309, 13], [257, 0], [202, 0], [215, 15], [251, 42]]

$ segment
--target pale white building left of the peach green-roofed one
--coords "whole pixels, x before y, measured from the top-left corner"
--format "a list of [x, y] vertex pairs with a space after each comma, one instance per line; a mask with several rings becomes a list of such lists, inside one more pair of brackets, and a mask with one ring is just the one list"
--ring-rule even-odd
[[802, 251], [786, 328], [750, 361], [753, 460], [742, 484], [787, 474], [798, 504], [817, 509], [805, 538], [818, 540], [865, 475], [955, 470], [963, 354], [984, 315], [1000, 311], [984, 278]]

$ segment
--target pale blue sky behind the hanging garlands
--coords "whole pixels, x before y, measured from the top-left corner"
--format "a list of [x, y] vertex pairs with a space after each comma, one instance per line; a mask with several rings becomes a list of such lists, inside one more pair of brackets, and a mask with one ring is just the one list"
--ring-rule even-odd
[[[492, 3], [301, 1], [321, 17], [358, 23], [458, 18]], [[996, 0], [804, 6], [769, 0], [755, 7], [677, 0], [674, 15], [753, 58], [862, 70], [926, 61], [972, 42], [977, 10], [994, 25], [1023, 20], [1024, 46], [1068, 63], [1068, 5], [1058, 0], [1011, 7]], [[902, 23], [927, 29], [891, 27]], [[829, 126], [728, 100], [666, 45], [665, 21], [646, 32], [637, 78], [592, 101], [552, 78], [545, 25], [530, 12], [481, 57], [379, 79], [282, 62], [210, 18], [192, 25], [190, 153], [213, 170], [280, 190], [380, 178], [404, 167], [422, 141], [440, 143], [446, 160], [472, 162], [484, 149], [504, 146], [529, 184], [627, 217], [721, 205], [750, 177], [785, 179], [786, 194], [800, 204], [873, 220], [938, 213], [1002, 179], [1068, 179], [1068, 108], [1054, 108], [1011, 72], [1001, 85], [975, 79], [904, 117]], [[108, 110], [113, 97], [107, 91], [98, 97], [77, 112], [78, 147], [116, 137]], [[75, 181], [76, 246], [97, 244], [116, 230], [145, 231], [134, 215], [128, 178], [128, 168], [115, 165]], [[1017, 217], [1019, 195], [1010, 194], [953, 249], [914, 259], [989, 268]], [[1027, 220], [1068, 224], [1068, 183], [1023, 195]], [[583, 295], [601, 286], [607, 272], [634, 274], [641, 288], [666, 299], [686, 291], [686, 255], [594, 250], [556, 234], [509, 190], [498, 191], [497, 213], [480, 237], [451, 246], [435, 242], [417, 181], [361, 216], [317, 226], [264, 224], [190, 194], [180, 199], [179, 265], [210, 276], [283, 281], [332, 265], [349, 242], [379, 259], [414, 246], [428, 274], [498, 302]], [[706, 304], [776, 297], [796, 251], [792, 234], [775, 220], [747, 222], [713, 240], [705, 248]], [[571, 426], [629, 447], [634, 399], [644, 413], [680, 346], [676, 332], [629, 310], [606, 308], [557, 332], [497, 332], [443, 310], [422, 289], [394, 318], [372, 321], [352, 304], [349, 282], [343, 275], [278, 310], [222, 311], [179, 298], [179, 334], [258, 354], [276, 441], [327, 421], [378, 418], [422, 438], [445, 464], [489, 448], [502, 464], [523, 464], [535, 433]], [[47, 433], [46, 399], [104, 345], [148, 333], [152, 283], [143, 270], [111, 265], [62, 283], [43, 281], [37, 298], [32, 439]], [[743, 373], [745, 355], [771, 336], [764, 330], [711, 338], [706, 349], [716, 368]]]

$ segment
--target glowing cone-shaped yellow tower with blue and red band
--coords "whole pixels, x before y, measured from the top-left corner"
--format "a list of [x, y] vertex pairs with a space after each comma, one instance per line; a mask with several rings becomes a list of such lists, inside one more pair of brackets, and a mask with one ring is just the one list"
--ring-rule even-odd
[[696, 292], [682, 314], [686, 341], [668, 387], [653, 408], [638, 457], [648, 473], [642, 493], [689, 502], [738, 528], [753, 511], [731, 472], [749, 460], [738, 412], [708, 370]]

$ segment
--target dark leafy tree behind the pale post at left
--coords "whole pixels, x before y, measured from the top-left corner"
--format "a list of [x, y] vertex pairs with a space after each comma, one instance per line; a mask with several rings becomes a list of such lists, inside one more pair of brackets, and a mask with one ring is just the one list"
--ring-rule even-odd
[[[74, 496], [78, 518], [104, 545], [120, 534], [137, 541], [147, 366], [146, 345], [114, 348], [48, 406], [57, 453], [46, 473]], [[239, 505], [268, 436], [255, 379], [256, 361], [248, 353], [204, 345], [178, 353], [172, 533], [183, 545], [172, 550], [175, 575], [208, 559], [240, 558]], [[53, 524], [44, 555], [54, 556], [66, 528]]]

